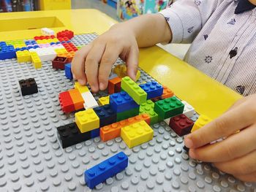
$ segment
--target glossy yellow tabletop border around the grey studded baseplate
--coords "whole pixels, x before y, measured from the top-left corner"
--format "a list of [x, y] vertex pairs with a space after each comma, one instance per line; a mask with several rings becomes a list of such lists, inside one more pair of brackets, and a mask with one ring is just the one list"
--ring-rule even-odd
[[[75, 34], [102, 34], [116, 20], [96, 9], [73, 9], [0, 14], [0, 40], [38, 36], [40, 28], [70, 29]], [[140, 50], [140, 67], [192, 104], [200, 114], [216, 118], [241, 96], [184, 61], [154, 46]]]

